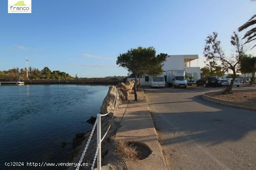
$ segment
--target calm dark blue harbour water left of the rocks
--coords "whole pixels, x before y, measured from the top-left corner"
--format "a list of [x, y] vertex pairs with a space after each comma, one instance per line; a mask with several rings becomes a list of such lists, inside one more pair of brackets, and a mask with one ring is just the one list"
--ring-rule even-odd
[[[107, 92], [108, 86], [98, 85], [0, 86], [0, 170], [40, 169], [27, 162], [68, 162], [75, 134], [91, 127], [83, 122], [100, 112]], [[5, 162], [24, 162], [24, 167]]]

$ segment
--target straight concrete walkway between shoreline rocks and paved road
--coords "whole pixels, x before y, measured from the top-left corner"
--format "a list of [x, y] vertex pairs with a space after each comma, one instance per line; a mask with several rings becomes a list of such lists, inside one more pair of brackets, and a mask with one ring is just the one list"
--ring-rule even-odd
[[121, 120], [121, 127], [117, 130], [115, 141], [135, 141], [142, 142], [150, 147], [152, 153], [145, 159], [139, 161], [125, 160], [128, 170], [166, 170], [162, 149], [158, 142], [155, 127], [148, 109], [148, 102], [144, 92], [138, 93], [138, 98], [142, 101], [133, 101], [131, 94], [130, 102], [126, 113]]

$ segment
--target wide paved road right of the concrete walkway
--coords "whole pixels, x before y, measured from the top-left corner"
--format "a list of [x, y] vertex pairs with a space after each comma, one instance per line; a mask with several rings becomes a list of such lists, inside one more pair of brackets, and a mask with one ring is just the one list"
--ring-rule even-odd
[[216, 88], [145, 88], [169, 170], [256, 170], [256, 112], [203, 101]]

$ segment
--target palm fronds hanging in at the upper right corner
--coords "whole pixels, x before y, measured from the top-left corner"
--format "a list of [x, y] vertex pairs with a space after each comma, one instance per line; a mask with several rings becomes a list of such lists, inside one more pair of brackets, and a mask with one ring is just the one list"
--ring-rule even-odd
[[[238, 28], [238, 31], [243, 31], [244, 29], [247, 29], [249, 26], [251, 25], [255, 25], [256, 24], [256, 15], [252, 16], [251, 19], [249, 19], [244, 25], [240, 26]], [[244, 36], [243, 36], [243, 39], [244, 38], [247, 38], [246, 43], [249, 43], [249, 42], [252, 42], [254, 40], [256, 40], [256, 27], [250, 29], [249, 31], [247, 31]], [[253, 49], [254, 47], [256, 47], [256, 44], [251, 48]]]

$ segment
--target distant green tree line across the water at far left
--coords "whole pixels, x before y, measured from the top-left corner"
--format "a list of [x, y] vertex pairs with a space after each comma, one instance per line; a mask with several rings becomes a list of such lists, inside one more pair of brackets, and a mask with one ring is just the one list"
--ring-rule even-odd
[[[27, 74], [28, 74], [28, 77], [27, 77]], [[48, 67], [45, 67], [42, 70], [29, 67], [27, 70], [26, 68], [25, 69], [13, 68], [9, 70], [0, 71], [0, 81], [19, 81], [19, 80], [26, 80], [26, 79], [73, 80], [75, 78], [59, 70], [51, 71]]]

